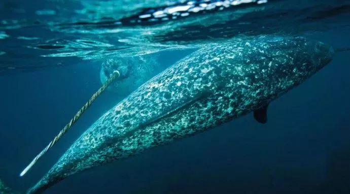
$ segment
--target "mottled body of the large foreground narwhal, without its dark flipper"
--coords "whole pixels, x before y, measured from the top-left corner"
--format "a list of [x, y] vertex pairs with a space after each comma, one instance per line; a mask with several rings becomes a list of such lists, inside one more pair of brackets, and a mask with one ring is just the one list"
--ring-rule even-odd
[[254, 111], [324, 67], [331, 47], [262, 36], [204, 45], [101, 116], [29, 190]]

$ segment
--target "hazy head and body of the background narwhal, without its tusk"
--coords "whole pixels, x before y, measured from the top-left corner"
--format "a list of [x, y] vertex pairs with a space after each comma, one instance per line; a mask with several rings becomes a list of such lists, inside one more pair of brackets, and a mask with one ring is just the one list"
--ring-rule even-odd
[[120, 77], [112, 83], [110, 88], [116, 91], [118, 96], [125, 98], [164, 69], [155, 55], [114, 57], [102, 62], [100, 79], [104, 83], [114, 71], [119, 71]]

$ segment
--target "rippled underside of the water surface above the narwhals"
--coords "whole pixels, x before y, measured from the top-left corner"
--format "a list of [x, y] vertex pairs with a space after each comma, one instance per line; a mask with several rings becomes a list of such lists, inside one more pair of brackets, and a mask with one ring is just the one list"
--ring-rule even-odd
[[[192, 7], [186, 7], [191, 1], [160, 2], [43, 1], [33, 7], [4, 1], [0, 8], [1, 74], [66, 66], [66, 61], [79, 58], [101, 61], [196, 48], [240, 36], [307, 36], [349, 27], [348, 1], [199, 1]], [[174, 11], [166, 12], [169, 7]], [[157, 21], [140, 18], [157, 12]], [[19, 62], [23, 58], [26, 63]]]

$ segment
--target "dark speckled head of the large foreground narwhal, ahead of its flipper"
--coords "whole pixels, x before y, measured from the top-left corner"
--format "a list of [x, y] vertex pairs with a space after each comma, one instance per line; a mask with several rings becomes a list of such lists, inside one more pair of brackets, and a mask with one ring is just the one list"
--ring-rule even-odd
[[251, 47], [255, 56], [251, 63], [257, 64], [254, 76], [258, 78], [253, 81], [271, 85], [272, 95], [301, 84], [325, 67], [334, 54], [331, 46], [304, 37], [263, 36], [254, 39]]

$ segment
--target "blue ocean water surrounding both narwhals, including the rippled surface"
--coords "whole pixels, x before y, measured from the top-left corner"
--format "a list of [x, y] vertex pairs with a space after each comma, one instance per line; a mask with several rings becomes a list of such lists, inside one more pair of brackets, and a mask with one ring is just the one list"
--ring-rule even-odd
[[[25, 193], [129, 94], [113, 87], [102, 93], [64, 138], [19, 176], [101, 87], [102, 63], [109, 58], [132, 58], [130, 66], [152, 61], [159, 67], [156, 74], [203, 44], [226, 39], [302, 36], [336, 51], [350, 48], [350, 1], [247, 2], [138, 22], [135, 18], [152, 10], [188, 2], [1, 1], [0, 179], [9, 192]], [[335, 52], [320, 72], [273, 101], [266, 124], [250, 113], [78, 173], [45, 193], [350, 193], [349, 52]], [[129, 87], [135, 85], [130, 81]]]

